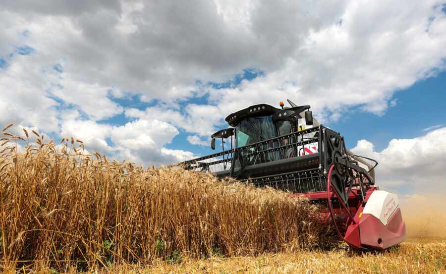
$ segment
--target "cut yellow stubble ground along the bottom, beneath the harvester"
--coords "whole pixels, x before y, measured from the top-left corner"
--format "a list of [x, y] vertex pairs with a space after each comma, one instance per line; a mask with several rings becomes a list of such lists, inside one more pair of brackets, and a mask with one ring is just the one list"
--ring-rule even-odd
[[[56, 273], [49, 268], [35, 273]], [[23, 271], [29, 273], [29, 271]], [[76, 273], [68, 270], [68, 273]], [[15, 271], [6, 271], [15, 274]], [[183, 258], [178, 263], [156, 261], [152, 266], [118, 264], [87, 273], [111, 274], [444, 274], [446, 239], [408, 239], [384, 252], [354, 252], [345, 245], [330, 250], [268, 253], [257, 257]]]

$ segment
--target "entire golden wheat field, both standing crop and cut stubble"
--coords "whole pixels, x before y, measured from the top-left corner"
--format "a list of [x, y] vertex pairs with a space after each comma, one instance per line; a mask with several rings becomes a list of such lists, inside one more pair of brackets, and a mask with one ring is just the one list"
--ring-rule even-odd
[[0, 143], [4, 273], [445, 272], [441, 210], [435, 222], [407, 219], [418, 232], [399, 247], [358, 253], [303, 198], [10, 129]]

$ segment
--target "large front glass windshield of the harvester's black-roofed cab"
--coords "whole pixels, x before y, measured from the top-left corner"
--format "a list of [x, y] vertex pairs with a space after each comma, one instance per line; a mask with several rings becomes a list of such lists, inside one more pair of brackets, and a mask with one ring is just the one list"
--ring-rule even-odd
[[235, 129], [237, 131], [237, 147], [277, 137], [272, 116], [247, 118], [241, 121]]

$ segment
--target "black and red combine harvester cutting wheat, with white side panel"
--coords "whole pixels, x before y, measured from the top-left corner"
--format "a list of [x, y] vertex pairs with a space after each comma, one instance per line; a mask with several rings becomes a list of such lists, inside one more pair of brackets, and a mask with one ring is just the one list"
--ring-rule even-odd
[[[331, 216], [352, 248], [383, 250], [402, 242], [406, 228], [398, 197], [375, 186], [378, 163], [348, 151], [338, 132], [313, 119], [310, 106], [287, 101], [290, 108], [280, 102], [281, 109], [260, 104], [231, 113], [225, 119], [231, 128], [212, 135], [212, 149], [220, 138], [223, 152], [180, 164], [304, 195]], [[227, 138], [231, 147], [224, 150]]]

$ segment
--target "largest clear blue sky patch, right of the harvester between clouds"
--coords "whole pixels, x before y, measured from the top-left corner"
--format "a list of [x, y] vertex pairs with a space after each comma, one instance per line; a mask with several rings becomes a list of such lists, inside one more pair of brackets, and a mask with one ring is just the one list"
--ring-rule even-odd
[[399, 90], [392, 100], [396, 100], [396, 105], [384, 115], [352, 110], [350, 115], [328, 126], [343, 133], [348, 147], [366, 139], [377, 151], [387, 148], [391, 139], [425, 135], [423, 129], [446, 125], [446, 73]]

